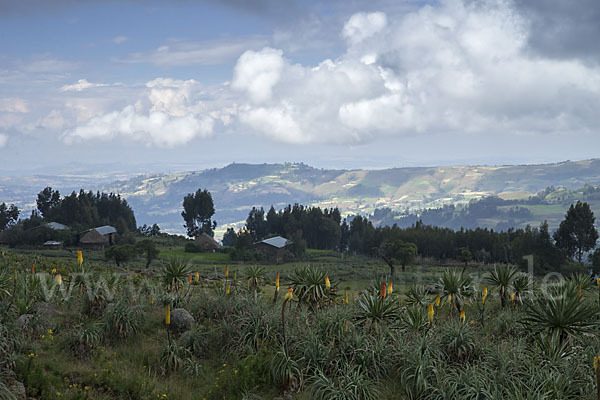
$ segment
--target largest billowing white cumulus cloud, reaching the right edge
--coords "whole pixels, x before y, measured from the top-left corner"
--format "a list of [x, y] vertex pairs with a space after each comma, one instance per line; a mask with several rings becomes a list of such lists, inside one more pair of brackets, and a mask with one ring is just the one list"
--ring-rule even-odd
[[600, 68], [532, 55], [528, 29], [503, 0], [355, 14], [337, 59], [307, 66], [277, 49], [245, 52], [231, 85], [239, 121], [288, 143], [597, 131]]

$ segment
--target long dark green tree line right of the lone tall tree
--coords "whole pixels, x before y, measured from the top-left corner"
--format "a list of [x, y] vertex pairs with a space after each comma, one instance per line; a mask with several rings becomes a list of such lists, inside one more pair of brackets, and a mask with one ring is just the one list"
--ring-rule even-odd
[[[368, 217], [342, 218], [338, 208], [288, 205], [265, 212], [253, 207], [243, 229], [229, 228], [224, 245], [243, 240], [252, 243], [280, 235], [302, 241], [312, 249], [328, 249], [381, 257], [391, 269], [405, 266], [416, 256], [468, 263], [524, 264], [524, 256], [534, 255], [537, 271], [556, 271], [567, 260], [584, 261], [584, 254], [596, 248], [598, 231], [589, 205], [577, 202], [568, 209], [559, 229], [552, 234], [548, 223], [524, 229], [495, 231], [487, 228], [450, 229], [426, 225], [421, 220], [410, 227], [375, 226]], [[238, 246], [239, 247], [239, 246]], [[590, 262], [600, 270], [600, 249], [590, 254]]]

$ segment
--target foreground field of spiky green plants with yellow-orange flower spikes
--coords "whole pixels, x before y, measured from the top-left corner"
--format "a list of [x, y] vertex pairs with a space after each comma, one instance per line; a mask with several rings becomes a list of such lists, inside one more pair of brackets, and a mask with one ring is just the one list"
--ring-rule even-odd
[[546, 284], [510, 266], [412, 266], [419, 283], [394, 284], [365, 265], [351, 282], [342, 266], [360, 271], [360, 259], [313, 256], [333, 260], [173, 258], [115, 273], [93, 254], [9, 252], [0, 399], [16, 382], [39, 399], [598, 396], [600, 286], [586, 275]]

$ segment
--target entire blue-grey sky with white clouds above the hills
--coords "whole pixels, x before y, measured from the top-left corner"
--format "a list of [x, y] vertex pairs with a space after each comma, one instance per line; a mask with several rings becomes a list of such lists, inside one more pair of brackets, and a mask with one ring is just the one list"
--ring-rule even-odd
[[0, 171], [598, 157], [597, 0], [0, 0]]

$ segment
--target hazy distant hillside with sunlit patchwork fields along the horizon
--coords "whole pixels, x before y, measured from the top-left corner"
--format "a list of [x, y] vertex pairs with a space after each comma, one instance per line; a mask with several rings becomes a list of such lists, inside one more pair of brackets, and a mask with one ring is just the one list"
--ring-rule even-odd
[[[547, 187], [564, 187], [569, 194], [564, 194], [567, 197], [562, 203], [526, 207], [531, 211], [527, 221], [538, 225], [543, 219], [553, 222], [564, 215], [567, 203], [577, 197], [576, 192], [570, 191], [586, 184], [600, 185], [600, 159], [544, 165], [383, 170], [324, 170], [291, 163], [231, 164], [218, 169], [140, 175], [118, 181], [106, 178], [73, 175], [0, 178], [0, 202], [32, 207], [35, 195], [46, 184], [63, 194], [78, 187], [113, 191], [128, 200], [138, 224], [158, 223], [164, 230], [183, 232], [180, 215], [183, 197], [198, 188], [212, 192], [217, 209], [215, 217], [223, 229], [226, 224], [245, 220], [253, 206], [267, 208], [273, 204], [282, 208], [302, 203], [338, 206], [345, 215], [372, 214], [381, 208], [416, 213], [444, 205], [465, 205], [490, 195], [504, 200], [526, 200]], [[560, 196], [559, 192], [553, 195]], [[503, 210], [502, 207], [499, 209]], [[497, 226], [504, 221], [510, 219], [496, 216], [490, 221], [479, 218], [476, 222]]]

